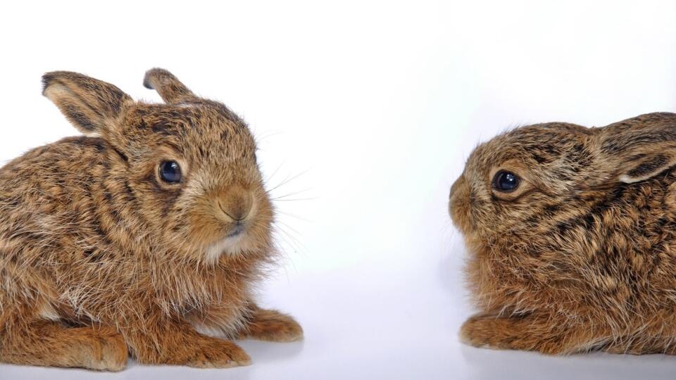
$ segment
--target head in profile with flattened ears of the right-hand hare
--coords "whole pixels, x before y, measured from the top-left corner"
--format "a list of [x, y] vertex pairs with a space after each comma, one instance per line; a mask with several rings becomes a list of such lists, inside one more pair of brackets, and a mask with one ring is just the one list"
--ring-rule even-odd
[[480, 144], [451, 187], [456, 227], [475, 241], [557, 234], [557, 222], [593, 218], [613, 191], [676, 164], [676, 115], [655, 113], [601, 128], [519, 127]]

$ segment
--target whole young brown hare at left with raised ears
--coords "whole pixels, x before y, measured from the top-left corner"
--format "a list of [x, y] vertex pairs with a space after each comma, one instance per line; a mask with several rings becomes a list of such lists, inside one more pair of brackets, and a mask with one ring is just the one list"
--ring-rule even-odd
[[0, 170], [0, 361], [232, 367], [250, 359], [228, 339], [302, 338], [252, 300], [273, 209], [237, 115], [161, 69], [144, 85], [165, 104], [75, 72], [42, 80], [86, 136]]

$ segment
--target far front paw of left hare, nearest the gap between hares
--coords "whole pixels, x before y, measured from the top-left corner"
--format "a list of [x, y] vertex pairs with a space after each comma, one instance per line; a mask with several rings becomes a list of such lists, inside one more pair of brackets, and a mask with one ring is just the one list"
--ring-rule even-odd
[[289, 315], [256, 308], [242, 336], [261, 341], [294, 342], [303, 338], [303, 328]]

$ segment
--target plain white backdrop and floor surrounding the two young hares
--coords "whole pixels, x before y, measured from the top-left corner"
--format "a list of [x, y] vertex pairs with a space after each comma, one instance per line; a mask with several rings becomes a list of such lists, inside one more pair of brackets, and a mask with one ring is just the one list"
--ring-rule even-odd
[[296, 316], [306, 339], [242, 342], [253, 365], [236, 369], [0, 365], [0, 379], [676, 373], [676, 358], [662, 355], [463, 346], [465, 251], [446, 210], [472, 147], [507, 127], [676, 110], [673, 2], [19, 3], [0, 9], [0, 159], [76, 134], [40, 96], [43, 72], [84, 72], [158, 101], [144, 71], [173, 71], [249, 122], [268, 186], [282, 184], [284, 267], [261, 300]]

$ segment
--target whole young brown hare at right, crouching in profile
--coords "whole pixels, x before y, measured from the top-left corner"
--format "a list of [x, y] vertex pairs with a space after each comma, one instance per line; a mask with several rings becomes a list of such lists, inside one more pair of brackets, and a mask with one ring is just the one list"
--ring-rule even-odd
[[449, 210], [472, 346], [676, 353], [676, 114], [553, 122], [478, 146]]

